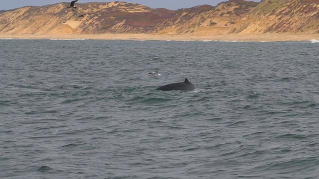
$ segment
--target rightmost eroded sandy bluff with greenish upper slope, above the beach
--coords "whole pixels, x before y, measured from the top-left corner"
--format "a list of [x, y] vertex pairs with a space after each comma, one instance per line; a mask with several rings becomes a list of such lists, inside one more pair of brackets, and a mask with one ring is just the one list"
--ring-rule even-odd
[[319, 0], [263, 0], [234, 33], [319, 33]]

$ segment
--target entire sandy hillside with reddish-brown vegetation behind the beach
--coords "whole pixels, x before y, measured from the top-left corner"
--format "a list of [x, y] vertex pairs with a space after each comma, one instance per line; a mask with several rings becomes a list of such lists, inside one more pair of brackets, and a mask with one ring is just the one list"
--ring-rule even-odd
[[1, 34], [317, 34], [319, 0], [228, 0], [168, 10], [129, 2], [25, 6], [0, 11]]

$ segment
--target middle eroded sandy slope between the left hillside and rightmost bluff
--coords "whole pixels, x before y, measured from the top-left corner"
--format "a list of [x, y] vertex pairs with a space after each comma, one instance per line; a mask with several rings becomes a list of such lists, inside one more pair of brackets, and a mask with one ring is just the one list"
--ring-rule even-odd
[[217, 6], [200, 5], [181, 9], [160, 23], [154, 32], [172, 34], [227, 34], [236, 24], [242, 23], [257, 2], [229, 0]]

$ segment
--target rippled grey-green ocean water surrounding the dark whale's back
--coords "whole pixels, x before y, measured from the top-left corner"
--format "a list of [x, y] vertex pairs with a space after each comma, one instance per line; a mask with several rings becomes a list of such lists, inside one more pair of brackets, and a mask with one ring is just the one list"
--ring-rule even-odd
[[316, 42], [1, 39], [0, 178], [318, 179]]

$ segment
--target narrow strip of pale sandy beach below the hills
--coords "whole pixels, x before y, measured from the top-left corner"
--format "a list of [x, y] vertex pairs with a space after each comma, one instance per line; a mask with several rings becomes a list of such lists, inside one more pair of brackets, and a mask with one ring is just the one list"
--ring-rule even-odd
[[100, 39], [100, 40], [221, 40], [221, 41], [309, 41], [319, 40], [319, 34], [227, 34], [227, 35], [169, 35], [169, 34], [0, 34], [0, 39]]

